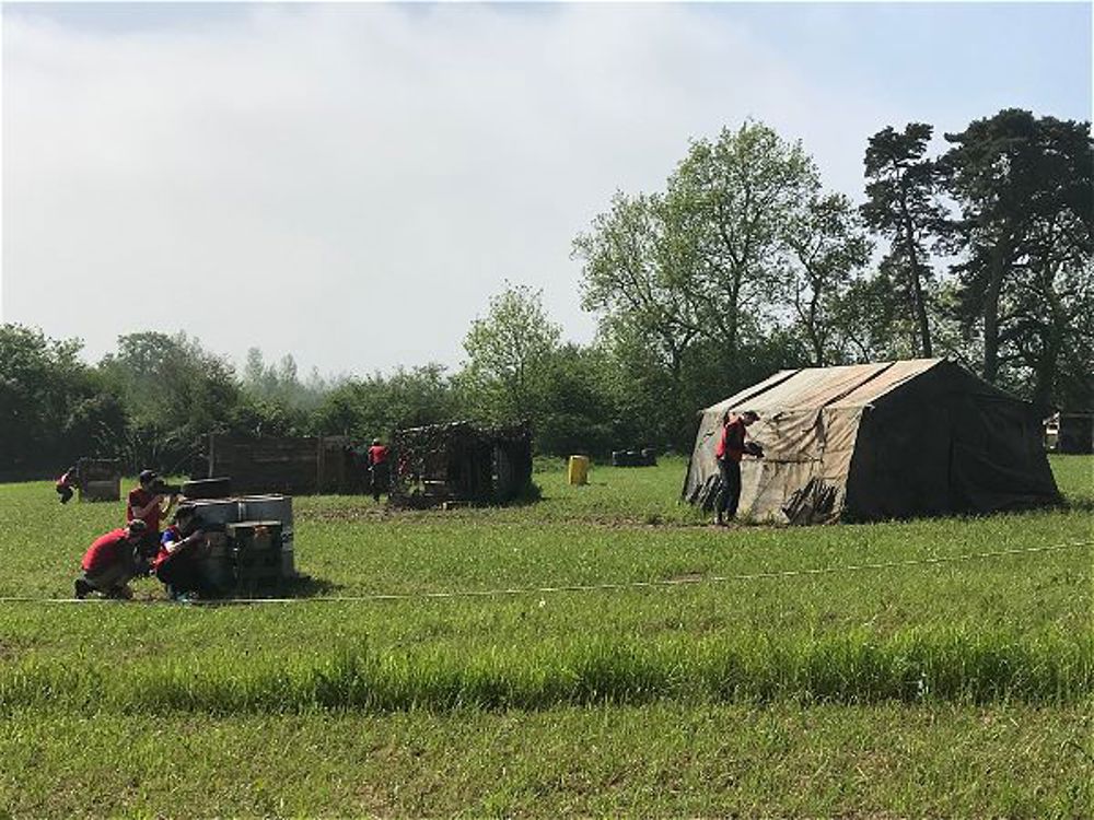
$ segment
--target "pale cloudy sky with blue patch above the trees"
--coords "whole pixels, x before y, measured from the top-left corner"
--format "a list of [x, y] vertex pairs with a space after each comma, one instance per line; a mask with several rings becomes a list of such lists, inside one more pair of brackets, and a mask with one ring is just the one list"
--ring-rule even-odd
[[457, 367], [511, 284], [747, 119], [861, 201], [871, 134], [1091, 119], [1089, 3], [4, 3], [0, 319], [302, 373]]

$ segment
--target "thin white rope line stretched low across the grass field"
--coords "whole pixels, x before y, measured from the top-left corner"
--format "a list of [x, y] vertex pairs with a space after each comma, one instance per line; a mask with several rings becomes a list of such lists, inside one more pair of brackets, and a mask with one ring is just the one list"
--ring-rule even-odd
[[[863, 572], [866, 570], [891, 570], [905, 566], [929, 566], [933, 564], [950, 564], [964, 561], [979, 561], [988, 558], [1004, 558], [1009, 555], [1027, 555], [1037, 552], [1060, 552], [1062, 550], [1089, 547], [1094, 539], [1085, 541], [1069, 541], [1048, 547], [1022, 547], [1010, 550], [991, 550], [988, 552], [968, 552], [961, 555], [935, 555], [931, 558], [907, 559], [905, 561], [878, 561], [869, 564], [843, 564], [839, 566], [814, 566], [805, 570], [775, 570], [770, 572], [742, 573], [735, 575], [698, 575], [685, 578], [665, 578], [662, 581], [627, 581], [604, 584], [558, 584], [537, 587], [504, 587], [496, 589], [456, 589], [437, 593], [370, 593], [352, 596], [314, 596], [301, 598], [209, 598], [191, 601], [194, 606], [253, 606], [256, 604], [359, 604], [369, 601], [406, 601], [431, 600], [449, 598], [501, 598], [521, 595], [551, 595], [557, 593], [593, 593], [615, 591], [622, 589], [653, 589], [679, 586], [696, 586], [698, 584], [719, 584], [735, 581], [770, 581], [775, 578], [794, 578], [808, 575], [836, 575], [842, 573]], [[30, 598], [0, 597], [0, 604], [103, 604], [115, 602], [105, 598]], [[125, 600], [128, 604], [161, 604], [159, 599]], [[174, 601], [170, 601], [174, 602]]]

